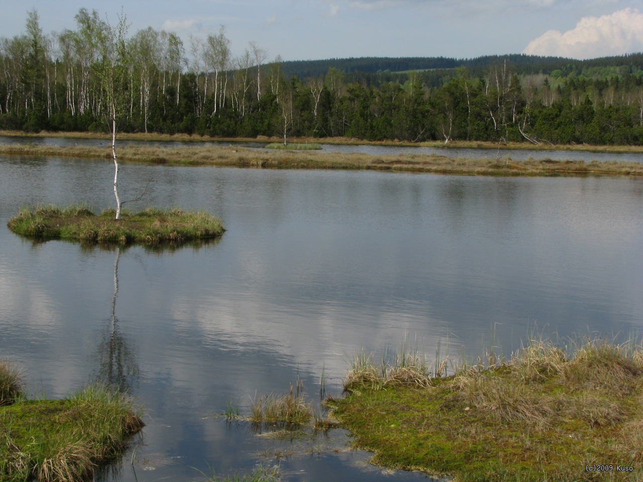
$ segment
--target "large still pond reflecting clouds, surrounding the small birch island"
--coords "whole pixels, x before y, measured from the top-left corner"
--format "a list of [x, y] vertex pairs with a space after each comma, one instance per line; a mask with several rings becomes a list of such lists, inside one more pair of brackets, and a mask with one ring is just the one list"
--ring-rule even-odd
[[107, 479], [192, 481], [258, 462], [286, 481], [424, 479], [365, 464], [340, 430], [274, 441], [215, 415], [230, 401], [248, 413], [297, 377], [318, 400], [322, 371], [338, 395], [354, 353], [404, 340], [431, 361], [438, 345], [476, 356], [533, 332], [643, 328], [643, 179], [125, 165], [124, 199], [152, 181], [127, 208], [207, 210], [228, 231], [154, 252], [6, 228], [24, 204], [113, 206], [111, 179], [100, 159], [0, 157], [0, 357], [33, 395], [110, 379], [140, 400], [134, 465], [130, 451]]

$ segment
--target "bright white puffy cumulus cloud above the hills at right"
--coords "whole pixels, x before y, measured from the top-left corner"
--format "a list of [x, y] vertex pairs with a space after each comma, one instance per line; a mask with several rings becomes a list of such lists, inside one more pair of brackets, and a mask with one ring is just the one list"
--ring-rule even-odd
[[573, 30], [550, 30], [529, 42], [523, 53], [595, 58], [643, 51], [643, 13], [625, 8], [611, 15], [583, 17]]

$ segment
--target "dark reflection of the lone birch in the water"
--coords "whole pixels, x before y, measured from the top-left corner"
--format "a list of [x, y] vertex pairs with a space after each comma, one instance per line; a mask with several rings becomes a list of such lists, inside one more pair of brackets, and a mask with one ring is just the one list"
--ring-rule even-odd
[[118, 329], [116, 297], [118, 296], [118, 261], [120, 247], [116, 246], [114, 260], [114, 294], [112, 296], [111, 324], [100, 341], [98, 381], [114, 386], [119, 391], [131, 391], [138, 383], [139, 368], [129, 341]]

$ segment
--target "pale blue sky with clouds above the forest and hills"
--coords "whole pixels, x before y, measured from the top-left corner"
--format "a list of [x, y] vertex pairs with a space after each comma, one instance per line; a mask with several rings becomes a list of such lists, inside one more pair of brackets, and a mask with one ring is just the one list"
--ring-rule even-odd
[[80, 8], [129, 33], [152, 27], [204, 39], [225, 27], [233, 55], [249, 42], [267, 60], [455, 57], [529, 53], [596, 58], [643, 51], [643, 0], [0, 0], [0, 37], [75, 29]]

